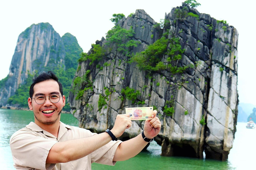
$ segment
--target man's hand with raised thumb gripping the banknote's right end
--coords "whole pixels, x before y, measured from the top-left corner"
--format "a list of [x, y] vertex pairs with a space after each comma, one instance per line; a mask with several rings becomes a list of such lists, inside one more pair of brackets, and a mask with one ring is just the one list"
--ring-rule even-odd
[[159, 118], [156, 117], [156, 113], [157, 113], [157, 111], [154, 110], [153, 114], [152, 114], [153, 119], [146, 120], [145, 124], [144, 124], [144, 134], [149, 139], [152, 139], [156, 135], [158, 135], [158, 133], [160, 132], [160, 129], [161, 129], [161, 122], [160, 122]]

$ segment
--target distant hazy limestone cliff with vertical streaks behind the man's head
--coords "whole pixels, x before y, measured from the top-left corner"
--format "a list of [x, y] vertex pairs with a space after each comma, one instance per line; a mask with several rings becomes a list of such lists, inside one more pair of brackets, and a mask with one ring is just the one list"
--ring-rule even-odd
[[[76, 53], [72, 48], [75, 48]], [[5, 106], [11, 96], [19, 95], [16, 90], [25, 84], [29, 73], [34, 74], [48, 70], [63, 72], [72, 67], [76, 68], [81, 52], [82, 49], [76, 38], [71, 34], [67, 33], [61, 38], [49, 23], [31, 25], [19, 35], [9, 74], [1, 81], [0, 106]], [[73, 78], [75, 69], [69, 71], [73, 72]], [[72, 80], [72, 78], [70, 79]], [[27, 103], [28, 95], [29, 93], [24, 96], [25, 103]], [[18, 105], [20, 105], [19, 102]], [[11, 105], [16, 103], [11, 103]]]

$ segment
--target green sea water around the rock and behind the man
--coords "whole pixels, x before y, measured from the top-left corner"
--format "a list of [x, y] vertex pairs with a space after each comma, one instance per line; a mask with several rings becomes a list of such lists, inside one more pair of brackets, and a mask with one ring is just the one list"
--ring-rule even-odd
[[[33, 112], [0, 109], [0, 164], [1, 170], [14, 170], [9, 146], [11, 135], [20, 128], [34, 121]], [[78, 126], [78, 121], [71, 114], [61, 114], [61, 121], [71, 126]], [[151, 142], [146, 151], [137, 156], [117, 162], [115, 166], [92, 164], [93, 170], [245, 170], [256, 169], [256, 129], [247, 129], [246, 123], [237, 123], [237, 132], [233, 148], [227, 161], [197, 159], [187, 157], [165, 157], [161, 155], [161, 146]]]

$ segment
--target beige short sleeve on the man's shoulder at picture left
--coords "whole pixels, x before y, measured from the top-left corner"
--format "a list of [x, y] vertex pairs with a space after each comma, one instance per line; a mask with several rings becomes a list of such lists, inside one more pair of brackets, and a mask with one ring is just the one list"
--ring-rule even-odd
[[33, 167], [35, 169], [53, 167], [50, 164], [46, 165], [46, 158], [55, 143], [57, 141], [38, 136], [36, 133], [14, 133], [10, 139], [14, 167]]

